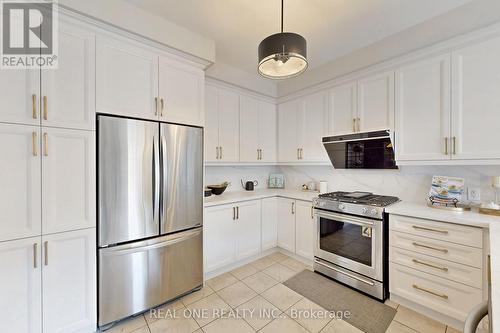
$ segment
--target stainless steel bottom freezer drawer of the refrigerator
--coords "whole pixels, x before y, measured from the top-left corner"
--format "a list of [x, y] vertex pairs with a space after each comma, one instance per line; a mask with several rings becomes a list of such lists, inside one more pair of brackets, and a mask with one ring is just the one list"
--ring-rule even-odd
[[99, 249], [99, 326], [203, 284], [202, 228]]

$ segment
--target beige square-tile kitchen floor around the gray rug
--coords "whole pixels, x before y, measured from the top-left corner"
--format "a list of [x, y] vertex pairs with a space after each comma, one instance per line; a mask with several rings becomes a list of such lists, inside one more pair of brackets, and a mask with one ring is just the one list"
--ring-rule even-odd
[[[282, 282], [303, 269], [304, 263], [276, 252], [206, 282], [203, 289], [158, 309], [127, 320], [106, 333], [362, 333], [349, 323], [330, 318], [293, 316], [300, 309], [325, 311], [287, 288]], [[388, 333], [458, 333], [394, 302], [397, 310]], [[215, 310], [212, 311], [212, 310]], [[204, 312], [205, 311], [205, 312]], [[294, 312], [295, 311], [295, 312]], [[260, 313], [272, 316], [259, 316]], [[232, 314], [232, 315], [231, 315]], [[245, 314], [236, 316], [236, 314]], [[253, 314], [253, 315], [252, 315]]]

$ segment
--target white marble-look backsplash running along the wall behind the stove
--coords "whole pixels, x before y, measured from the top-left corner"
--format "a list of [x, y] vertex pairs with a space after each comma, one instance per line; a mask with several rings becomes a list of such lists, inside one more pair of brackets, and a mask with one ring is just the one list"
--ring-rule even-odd
[[269, 174], [273, 172], [285, 175], [289, 189], [325, 180], [329, 191], [368, 191], [407, 201], [425, 200], [434, 175], [462, 177], [466, 187], [481, 190], [481, 201], [485, 202], [495, 197], [491, 177], [500, 175], [500, 166], [403, 166], [399, 170], [340, 170], [331, 166], [207, 167], [205, 183], [227, 180], [232, 183], [228, 191], [242, 191], [240, 179], [257, 180], [257, 189], [266, 188]]

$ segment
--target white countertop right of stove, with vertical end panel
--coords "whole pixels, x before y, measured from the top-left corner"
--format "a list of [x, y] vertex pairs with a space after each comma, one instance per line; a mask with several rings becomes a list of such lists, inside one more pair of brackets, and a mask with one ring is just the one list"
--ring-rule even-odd
[[386, 208], [386, 212], [429, 220], [488, 228], [491, 260], [491, 322], [492, 332], [500, 332], [500, 217], [470, 212], [453, 212], [428, 207], [425, 202], [398, 202]]

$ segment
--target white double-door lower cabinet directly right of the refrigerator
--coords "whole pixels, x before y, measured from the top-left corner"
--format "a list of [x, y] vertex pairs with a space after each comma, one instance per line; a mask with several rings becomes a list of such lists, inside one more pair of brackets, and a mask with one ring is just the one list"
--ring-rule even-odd
[[260, 214], [260, 200], [205, 210], [205, 272], [259, 254]]

